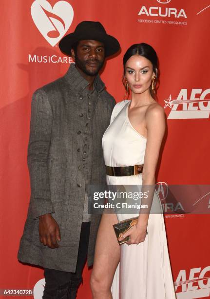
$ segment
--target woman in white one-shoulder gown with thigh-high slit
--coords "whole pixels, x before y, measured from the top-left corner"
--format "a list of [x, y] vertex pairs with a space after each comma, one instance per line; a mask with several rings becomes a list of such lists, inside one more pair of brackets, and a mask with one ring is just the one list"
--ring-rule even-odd
[[[165, 132], [164, 110], [155, 101], [156, 52], [146, 43], [134, 44], [125, 53], [123, 65], [125, 87], [131, 89], [132, 100], [115, 105], [102, 140], [104, 160], [112, 167], [143, 165], [143, 171], [107, 174], [107, 184], [125, 188], [154, 185]], [[94, 299], [176, 298], [161, 202], [156, 191], [153, 194], [150, 214], [102, 215], [91, 275]], [[122, 237], [129, 235], [130, 241], [119, 245], [113, 224], [135, 216], [139, 216], [137, 224]]]

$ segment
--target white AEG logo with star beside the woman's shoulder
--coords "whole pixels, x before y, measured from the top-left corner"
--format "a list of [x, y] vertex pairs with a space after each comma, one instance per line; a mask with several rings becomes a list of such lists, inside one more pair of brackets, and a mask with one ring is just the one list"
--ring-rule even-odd
[[210, 99], [205, 99], [208, 94], [210, 94], [210, 88], [203, 91], [201, 88], [194, 88], [191, 90], [189, 99], [188, 90], [182, 88], [176, 99], [172, 99], [170, 95], [167, 100], [164, 100], [164, 109], [166, 107], [172, 109], [168, 119], [209, 118]]

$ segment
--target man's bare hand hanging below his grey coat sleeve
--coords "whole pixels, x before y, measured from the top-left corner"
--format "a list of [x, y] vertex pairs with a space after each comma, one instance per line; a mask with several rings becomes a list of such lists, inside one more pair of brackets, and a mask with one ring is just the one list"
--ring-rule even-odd
[[39, 216], [39, 239], [45, 246], [59, 247], [57, 241], [60, 241], [60, 229], [51, 214]]

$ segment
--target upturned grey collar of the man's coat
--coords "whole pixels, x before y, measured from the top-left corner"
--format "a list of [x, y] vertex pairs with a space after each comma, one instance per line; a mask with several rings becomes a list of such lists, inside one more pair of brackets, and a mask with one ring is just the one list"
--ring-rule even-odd
[[[76, 69], [76, 64], [73, 63], [70, 64], [70, 67], [65, 75], [65, 79], [72, 87], [80, 92], [84, 91], [84, 89], [89, 85], [89, 82], [85, 80]], [[94, 80], [94, 89], [96, 89], [97, 92], [101, 92], [104, 88], [105, 84], [97, 74]]]

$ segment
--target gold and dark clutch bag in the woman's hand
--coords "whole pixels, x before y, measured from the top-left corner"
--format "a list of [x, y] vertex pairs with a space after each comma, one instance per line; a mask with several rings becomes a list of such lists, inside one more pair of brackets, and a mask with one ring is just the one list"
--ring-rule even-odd
[[117, 237], [117, 241], [119, 243], [119, 245], [130, 241], [130, 235], [127, 236], [126, 238], [124, 238], [123, 240], [119, 241], [118, 238], [122, 235], [127, 233], [134, 225], [136, 225], [138, 221], [138, 216], [134, 217], [134, 218], [129, 218], [126, 220], [122, 220], [116, 224], [113, 225], [114, 230], [115, 230], [115, 235]]

